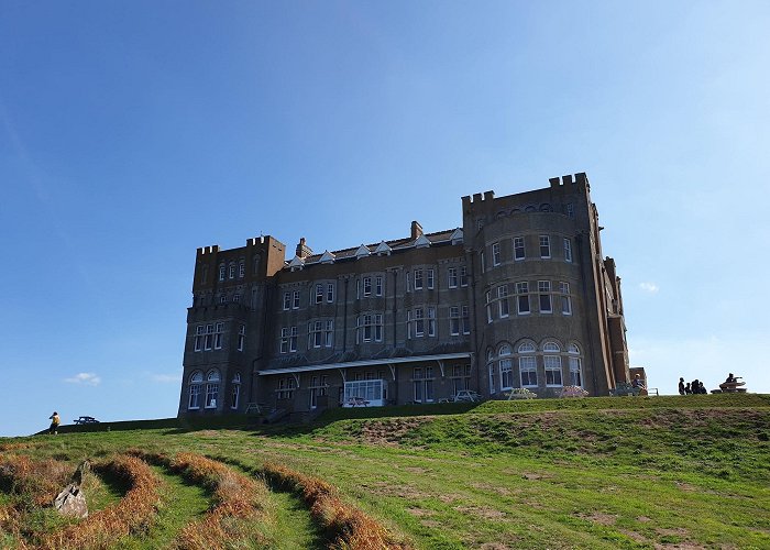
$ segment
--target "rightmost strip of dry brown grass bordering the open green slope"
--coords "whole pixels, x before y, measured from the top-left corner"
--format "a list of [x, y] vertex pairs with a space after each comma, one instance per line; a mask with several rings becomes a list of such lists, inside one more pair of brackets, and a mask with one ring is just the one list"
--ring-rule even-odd
[[265, 464], [265, 475], [274, 483], [301, 495], [312, 517], [327, 529], [331, 548], [353, 550], [410, 548], [396, 541], [377, 521], [343, 503], [327, 482], [279, 464]]

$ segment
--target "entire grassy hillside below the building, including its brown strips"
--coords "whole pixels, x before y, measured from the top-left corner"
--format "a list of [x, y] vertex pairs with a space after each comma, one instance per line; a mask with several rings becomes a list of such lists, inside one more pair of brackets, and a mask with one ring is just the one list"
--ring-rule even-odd
[[78, 525], [46, 507], [61, 486], [30, 482], [35, 464], [69, 472], [92, 461], [90, 507], [109, 512], [135, 496], [116, 473], [128, 460], [116, 457], [132, 450], [155, 476], [157, 494], [145, 498], [155, 508], [139, 528], [90, 543], [195, 548], [207, 539], [194, 536], [213, 537], [211, 546], [219, 534], [265, 548], [770, 548], [770, 396], [487, 402], [334, 410], [300, 427], [231, 417], [107, 429], [0, 442], [0, 547], [45, 546]]

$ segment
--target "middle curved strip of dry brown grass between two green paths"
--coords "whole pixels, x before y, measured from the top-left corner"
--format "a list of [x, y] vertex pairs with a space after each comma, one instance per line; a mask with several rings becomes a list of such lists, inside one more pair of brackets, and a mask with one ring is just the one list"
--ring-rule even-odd
[[226, 544], [230, 548], [239, 543], [248, 547], [271, 546], [261, 530], [270, 521], [265, 506], [268, 492], [264, 484], [199, 454], [180, 453], [170, 458], [134, 452], [212, 492], [213, 506], [202, 520], [189, 524], [182, 530], [176, 539], [177, 548], [218, 550], [224, 549]]

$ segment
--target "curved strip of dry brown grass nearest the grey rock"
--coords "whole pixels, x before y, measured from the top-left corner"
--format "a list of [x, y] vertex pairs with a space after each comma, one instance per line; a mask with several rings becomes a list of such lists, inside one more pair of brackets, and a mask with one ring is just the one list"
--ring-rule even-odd
[[146, 531], [152, 524], [161, 481], [146, 463], [135, 457], [120, 455], [91, 468], [124, 481], [130, 487], [128, 493], [119, 503], [91, 514], [79, 524], [44, 536], [40, 548], [105, 549], [120, 537]]

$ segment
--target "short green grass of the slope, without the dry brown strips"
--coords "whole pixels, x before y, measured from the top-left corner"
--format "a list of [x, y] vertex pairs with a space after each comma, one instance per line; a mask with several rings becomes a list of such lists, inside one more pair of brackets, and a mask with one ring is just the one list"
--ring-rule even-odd
[[[277, 462], [332, 483], [417, 548], [770, 548], [770, 396], [338, 409], [288, 428], [249, 421], [41, 437], [18, 452], [75, 461], [139, 446], [252, 473]], [[272, 498], [280, 548], [322, 546], [299, 501]], [[179, 514], [182, 522], [196, 513]], [[169, 524], [168, 537], [176, 529]]]

